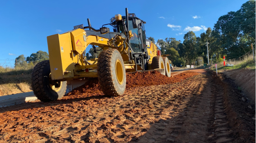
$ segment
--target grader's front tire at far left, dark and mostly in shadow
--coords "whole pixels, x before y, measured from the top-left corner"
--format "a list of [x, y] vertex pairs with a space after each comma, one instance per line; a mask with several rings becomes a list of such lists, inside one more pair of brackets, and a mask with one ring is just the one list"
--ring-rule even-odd
[[62, 98], [66, 92], [67, 81], [60, 82], [59, 88], [53, 90], [50, 85], [51, 73], [49, 60], [39, 62], [32, 71], [32, 89], [34, 95], [43, 102], [55, 101]]

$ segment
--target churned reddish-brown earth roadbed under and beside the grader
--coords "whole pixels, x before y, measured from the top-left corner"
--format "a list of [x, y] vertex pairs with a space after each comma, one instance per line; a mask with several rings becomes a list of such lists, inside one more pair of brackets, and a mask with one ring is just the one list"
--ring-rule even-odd
[[0, 143], [253, 143], [255, 104], [223, 74], [127, 74], [123, 96], [98, 80], [61, 100], [0, 108]]

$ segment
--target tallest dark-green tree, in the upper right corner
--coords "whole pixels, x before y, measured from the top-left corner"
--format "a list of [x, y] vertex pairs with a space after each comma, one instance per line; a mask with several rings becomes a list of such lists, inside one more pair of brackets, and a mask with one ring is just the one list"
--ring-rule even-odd
[[255, 0], [249, 0], [241, 9], [221, 16], [213, 31], [227, 58], [237, 58], [250, 51], [255, 42]]

